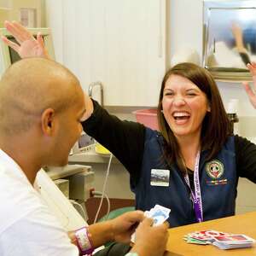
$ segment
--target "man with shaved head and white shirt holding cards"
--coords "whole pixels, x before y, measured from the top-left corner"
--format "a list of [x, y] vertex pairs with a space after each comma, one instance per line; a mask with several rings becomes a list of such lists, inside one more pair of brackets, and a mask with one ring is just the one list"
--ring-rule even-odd
[[[67, 235], [44, 204], [33, 183], [42, 166], [65, 166], [88, 117], [79, 80], [55, 61], [28, 58], [0, 81], [0, 255], [90, 254], [106, 241], [129, 242], [131, 253], [164, 253], [167, 227], [152, 227], [143, 212], [127, 212]], [[149, 242], [148, 242], [149, 241]], [[116, 251], [115, 251], [116, 252]], [[96, 255], [114, 254], [108, 249]], [[138, 253], [138, 254], [137, 254]], [[128, 253], [129, 254], [129, 253]]]

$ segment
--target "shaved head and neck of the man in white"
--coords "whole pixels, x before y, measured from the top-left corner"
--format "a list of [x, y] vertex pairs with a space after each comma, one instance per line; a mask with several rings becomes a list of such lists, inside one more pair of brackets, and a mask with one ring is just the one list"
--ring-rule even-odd
[[[63, 119], [66, 113], [67, 121]], [[15, 154], [21, 167], [29, 168], [31, 182], [38, 166], [67, 165], [68, 152], [82, 131], [84, 113], [84, 93], [78, 79], [55, 61], [19, 61], [0, 82], [1, 144], [6, 153]], [[28, 148], [32, 150], [24, 159]]]

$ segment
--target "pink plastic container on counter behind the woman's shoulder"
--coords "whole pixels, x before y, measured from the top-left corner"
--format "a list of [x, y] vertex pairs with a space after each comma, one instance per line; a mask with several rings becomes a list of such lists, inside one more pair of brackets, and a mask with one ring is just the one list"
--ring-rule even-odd
[[140, 109], [133, 111], [132, 113], [135, 114], [138, 123], [141, 123], [153, 130], [159, 130], [156, 108]]

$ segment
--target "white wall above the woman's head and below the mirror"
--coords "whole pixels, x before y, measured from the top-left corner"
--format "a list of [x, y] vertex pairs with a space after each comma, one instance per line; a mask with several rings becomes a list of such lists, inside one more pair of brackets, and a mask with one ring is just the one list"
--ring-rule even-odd
[[[195, 49], [202, 53], [203, 0], [167, 0], [170, 1], [170, 52], [171, 58], [179, 49]], [[224, 100], [239, 99], [239, 115], [255, 118], [256, 110], [247, 100], [247, 95], [240, 83], [221, 83], [218, 88]]]

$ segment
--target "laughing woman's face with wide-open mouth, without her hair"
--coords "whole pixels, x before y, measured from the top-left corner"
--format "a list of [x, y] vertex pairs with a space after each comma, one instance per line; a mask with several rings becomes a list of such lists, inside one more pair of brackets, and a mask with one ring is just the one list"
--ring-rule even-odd
[[166, 81], [162, 107], [165, 119], [175, 137], [199, 141], [202, 120], [210, 112], [207, 96], [189, 79], [171, 75]]

